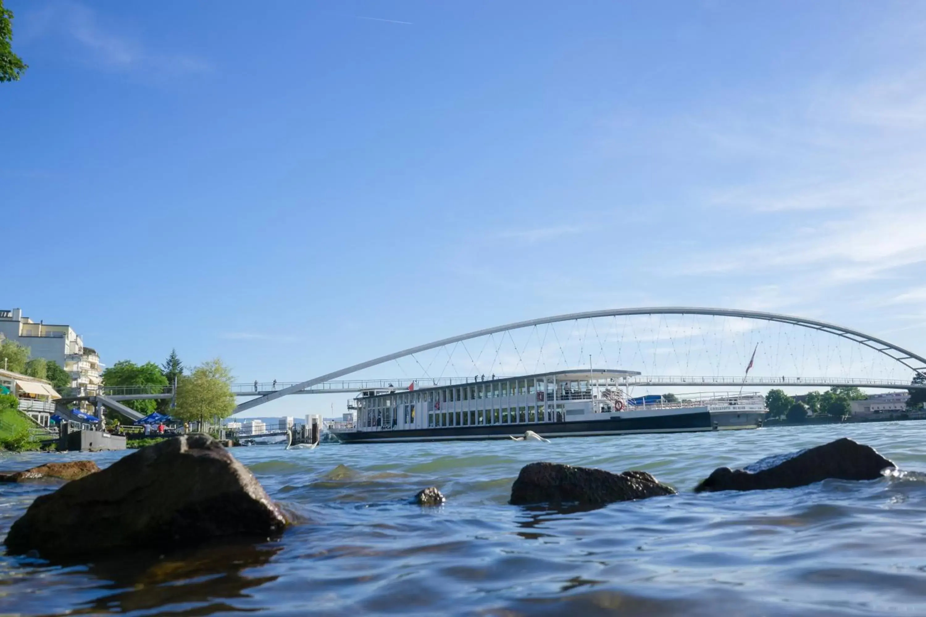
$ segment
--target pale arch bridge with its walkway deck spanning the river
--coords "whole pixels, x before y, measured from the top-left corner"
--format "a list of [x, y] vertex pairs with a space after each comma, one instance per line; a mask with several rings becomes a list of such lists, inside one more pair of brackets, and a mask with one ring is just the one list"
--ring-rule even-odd
[[[867, 348], [891, 362], [904, 367], [912, 374], [912, 379], [876, 379], [864, 377], [815, 377], [815, 376], [760, 376], [760, 377], [737, 377], [737, 376], [634, 376], [629, 378], [625, 383], [629, 386], [787, 386], [787, 387], [832, 387], [832, 386], [857, 386], [859, 388], [885, 388], [885, 389], [926, 389], [926, 358], [923, 356], [904, 349], [898, 345], [890, 343], [879, 337], [875, 337], [858, 330], [837, 326], [827, 322], [814, 319], [807, 319], [795, 315], [781, 315], [776, 313], [765, 313], [759, 311], [744, 311], [737, 309], [719, 309], [719, 308], [700, 308], [700, 307], [643, 307], [643, 308], [624, 308], [624, 309], [605, 309], [601, 311], [587, 311], [582, 313], [570, 313], [566, 315], [553, 315], [530, 319], [506, 324], [497, 327], [488, 327], [481, 330], [475, 330], [466, 334], [447, 339], [435, 340], [430, 343], [411, 347], [400, 352], [389, 353], [387, 355], [373, 358], [359, 364], [352, 364], [342, 369], [332, 371], [325, 375], [312, 377], [305, 381], [295, 383], [276, 383], [273, 384], [236, 384], [235, 394], [238, 396], [255, 397], [250, 401], [244, 401], [235, 409], [235, 413], [257, 407], [269, 401], [274, 401], [282, 396], [289, 394], [319, 394], [319, 393], [336, 393], [336, 392], [356, 392], [363, 389], [402, 389], [407, 388], [410, 384], [415, 383], [420, 387], [450, 385], [451, 383], [465, 383], [470, 377], [440, 377], [440, 378], [399, 378], [399, 379], [355, 379], [355, 380], [338, 380], [339, 377], [348, 376], [364, 369], [385, 364], [406, 356], [414, 357], [414, 354], [426, 352], [447, 345], [469, 339], [478, 339], [481, 337], [491, 336], [497, 333], [510, 332], [525, 327], [536, 327], [544, 324], [556, 324], [558, 322], [578, 321], [582, 319], [594, 319], [597, 317], [617, 317], [630, 315], [709, 315], [715, 317], [740, 317], [745, 319], [761, 320], [766, 322], [784, 324], [793, 327], [807, 328], [818, 333], [838, 337], [856, 343], [858, 346]], [[754, 353], [755, 357], [755, 353]]]

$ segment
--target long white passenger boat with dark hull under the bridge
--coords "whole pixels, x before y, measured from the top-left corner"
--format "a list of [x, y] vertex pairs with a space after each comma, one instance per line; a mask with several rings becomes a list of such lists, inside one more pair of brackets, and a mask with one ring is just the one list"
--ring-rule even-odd
[[345, 443], [678, 433], [762, 426], [757, 392], [627, 397], [619, 370], [460, 379], [459, 383], [361, 392], [356, 422], [332, 426]]

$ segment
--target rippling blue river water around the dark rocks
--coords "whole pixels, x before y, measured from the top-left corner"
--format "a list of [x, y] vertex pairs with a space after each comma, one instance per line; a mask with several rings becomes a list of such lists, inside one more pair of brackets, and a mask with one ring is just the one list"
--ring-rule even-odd
[[[715, 467], [834, 438], [926, 472], [926, 423], [238, 448], [300, 521], [278, 540], [51, 566], [0, 558], [0, 613], [926, 614], [926, 480], [695, 495]], [[122, 453], [0, 454], [0, 469]], [[510, 506], [534, 461], [642, 469], [680, 495], [587, 512]], [[169, 478], [165, 478], [169, 482]], [[440, 487], [443, 507], [407, 500]], [[54, 487], [0, 485], [0, 536]]]

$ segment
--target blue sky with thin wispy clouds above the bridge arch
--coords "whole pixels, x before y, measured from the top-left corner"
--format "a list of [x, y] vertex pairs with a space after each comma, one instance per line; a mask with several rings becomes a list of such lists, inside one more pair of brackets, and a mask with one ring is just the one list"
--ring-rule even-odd
[[106, 364], [662, 304], [926, 350], [922, 3], [6, 6], [0, 304]]

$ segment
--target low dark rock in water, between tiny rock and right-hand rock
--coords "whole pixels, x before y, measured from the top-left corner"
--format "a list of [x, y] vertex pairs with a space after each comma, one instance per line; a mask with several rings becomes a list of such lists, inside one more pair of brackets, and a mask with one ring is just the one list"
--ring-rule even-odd
[[612, 474], [603, 469], [559, 463], [531, 463], [521, 468], [511, 486], [513, 505], [531, 503], [581, 503], [604, 505], [612, 501], [642, 500], [674, 495], [675, 489], [660, 484], [646, 472]]

